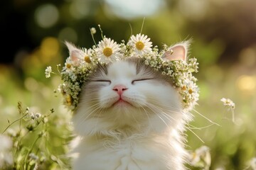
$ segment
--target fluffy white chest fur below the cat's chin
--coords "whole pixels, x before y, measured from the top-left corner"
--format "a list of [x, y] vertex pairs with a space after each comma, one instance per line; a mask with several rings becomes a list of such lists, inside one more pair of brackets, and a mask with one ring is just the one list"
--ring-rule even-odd
[[74, 169], [98, 170], [167, 170], [184, 169], [183, 157], [177, 132], [163, 132], [129, 137], [85, 137], [74, 150], [79, 153]]

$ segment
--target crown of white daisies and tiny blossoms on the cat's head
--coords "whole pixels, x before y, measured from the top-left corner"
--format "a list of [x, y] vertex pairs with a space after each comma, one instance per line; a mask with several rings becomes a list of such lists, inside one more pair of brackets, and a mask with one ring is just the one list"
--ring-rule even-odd
[[[78, 106], [82, 85], [100, 64], [125, 60], [127, 57], [142, 58], [144, 64], [169, 76], [174, 88], [181, 95], [183, 110], [193, 109], [198, 101], [197, 79], [192, 75], [193, 72], [198, 72], [198, 62], [196, 58], [186, 61], [188, 41], [171, 47], [164, 45], [160, 52], [157, 46], [151, 48], [150, 38], [141, 33], [132, 35], [127, 43], [122, 40], [120, 44], [102, 36], [102, 40], [90, 49], [75, 47], [70, 42], [65, 42], [65, 45], [70, 56], [60, 72], [63, 83], [58, 87], [58, 91], [63, 95], [64, 105], [71, 111], [75, 111]], [[46, 77], [50, 77], [50, 73], [51, 67], [47, 67]]]

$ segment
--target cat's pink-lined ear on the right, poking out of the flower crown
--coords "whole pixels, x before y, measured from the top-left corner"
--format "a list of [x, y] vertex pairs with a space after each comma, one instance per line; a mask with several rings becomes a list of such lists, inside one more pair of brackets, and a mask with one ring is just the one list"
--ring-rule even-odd
[[186, 61], [188, 55], [188, 46], [190, 41], [183, 41], [169, 47], [169, 51], [165, 52], [162, 56], [165, 60], [183, 60]]

